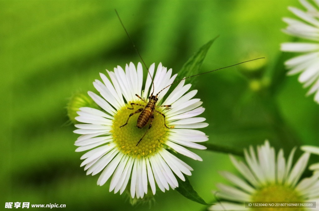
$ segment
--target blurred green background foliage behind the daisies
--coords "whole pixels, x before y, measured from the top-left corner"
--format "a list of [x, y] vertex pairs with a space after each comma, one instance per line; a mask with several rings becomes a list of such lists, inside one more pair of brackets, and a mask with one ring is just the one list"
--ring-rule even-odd
[[[217, 35], [202, 72], [255, 57], [266, 57], [261, 79], [269, 86], [253, 91], [244, 66], [199, 76], [210, 143], [241, 150], [269, 139], [285, 155], [294, 145], [317, 144], [318, 105], [286, 77], [282, 63], [291, 54], [279, 44], [293, 40], [280, 30], [287, 6], [298, 1], [0, 1], [1, 193], [5, 202], [66, 204], [66, 210], [147, 210], [125, 196], [109, 193], [109, 182], [86, 176], [73, 145], [78, 135], [66, 104], [75, 92], [94, 90], [99, 72], [140, 61], [114, 9], [149, 66], [177, 73], [199, 47]], [[253, 65], [253, 64], [252, 64]], [[144, 68], [145, 69], [145, 68]], [[144, 73], [146, 74], [146, 72]], [[258, 81], [257, 81], [258, 82]], [[258, 84], [258, 83], [257, 83]], [[203, 162], [182, 157], [194, 168], [190, 182], [205, 201], [225, 182], [218, 171], [234, 171], [226, 154], [193, 150]], [[299, 152], [300, 154], [300, 152]], [[312, 156], [313, 157], [313, 156]], [[155, 196], [153, 210], [204, 210], [170, 190]]]

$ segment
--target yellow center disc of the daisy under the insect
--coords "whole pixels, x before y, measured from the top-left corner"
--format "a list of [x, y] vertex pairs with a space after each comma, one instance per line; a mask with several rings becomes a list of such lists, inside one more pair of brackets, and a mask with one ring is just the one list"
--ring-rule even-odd
[[[159, 149], [162, 149], [163, 144], [167, 140], [168, 128], [164, 125], [164, 117], [161, 114], [154, 112], [152, 127], [148, 130], [150, 121], [142, 128], [136, 127], [137, 118], [141, 115], [141, 113], [136, 113], [130, 117], [127, 125], [120, 128], [120, 126], [126, 123], [130, 113], [134, 113], [139, 108], [145, 108], [143, 106], [133, 105], [134, 109], [127, 109], [127, 107], [131, 108], [130, 103], [131, 102], [118, 110], [114, 116], [112, 125], [113, 130], [111, 131], [113, 133], [114, 142], [117, 144], [119, 150], [132, 157], [140, 158], [143, 156], [150, 156]], [[133, 101], [133, 103], [146, 105], [143, 101]], [[143, 137], [146, 131], [146, 135], [136, 146], [137, 142]]]

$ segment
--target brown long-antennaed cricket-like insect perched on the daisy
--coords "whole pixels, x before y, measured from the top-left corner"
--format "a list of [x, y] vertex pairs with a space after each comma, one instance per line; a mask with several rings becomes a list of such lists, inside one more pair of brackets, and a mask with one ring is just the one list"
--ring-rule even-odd
[[[157, 112], [159, 114], [161, 114], [164, 118], [164, 125], [165, 127], [167, 127], [166, 125], [166, 120], [165, 120], [165, 115], [159, 111], [156, 110], [156, 108], [159, 108], [159, 107], [167, 107], [165, 109], [171, 109], [171, 106], [172, 105], [156, 105], [157, 101], [158, 101], [158, 95], [160, 92], [162, 92], [164, 89], [166, 89], [167, 87], [175, 84], [175, 83], [178, 83], [182, 80], [185, 80], [187, 78], [190, 78], [190, 77], [194, 77], [194, 76], [199, 76], [199, 75], [203, 75], [203, 74], [206, 74], [206, 73], [210, 73], [210, 72], [213, 72], [213, 71], [216, 71], [216, 70], [219, 70], [219, 69], [225, 69], [225, 68], [228, 68], [228, 67], [232, 67], [232, 66], [235, 66], [235, 65], [238, 65], [238, 64], [242, 64], [242, 63], [245, 63], [245, 62], [250, 62], [250, 61], [254, 61], [254, 60], [257, 60], [257, 59], [262, 59], [262, 58], [257, 58], [257, 59], [252, 59], [252, 60], [249, 60], [249, 61], [245, 61], [245, 62], [240, 62], [240, 63], [237, 63], [237, 64], [233, 64], [233, 65], [230, 65], [230, 66], [227, 66], [227, 67], [223, 67], [223, 68], [219, 68], [219, 69], [214, 69], [214, 70], [211, 70], [211, 71], [208, 71], [208, 72], [204, 72], [204, 73], [200, 73], [200, 74], [197, 74], [197, 75], [193, 75], [193, 76], [189, 76], [189, 77], [186, 77], [186, 78], [183, 78], [181, 80], [178, 80], [178, 81], [175, 81], [174, 83], [172, 84], [169, 84], [168, 86], [164, 87], [161, 91], [159, 91], [156, 95], [154, 95], [154, 81], [153, 81], [153, 78], [152, 78], [152, 75], [151, 73], [149, 72], [145, 62], [143, 61], [141, 55], [139, 54], [139, 52], [137, 51], [137, 48], [135, 47], [134, 45], [134, 42], [133, 40], [130, 38], [130, 35], [129, 33], [126, 31], [123, 23], [122, 23], [122, 20], [119, 16], [119, 14], [117, 13], [117, 11], [115, 10], [116, 14], [117, 14], [117, 17], [119, 18], [120, 22], [121, 22], [121, 25], [122, 27], [124, 28], [127, 36], [129, 37], [130, 41], [132, 42], [133, 44], [133, 47], [134, 49], [136, 50], [137, 54], [139, 55], [140, 59], [142, 60], [142, 62], [144, 63], [147, 71], [148, 71], [148, 74], [151, 76], [151, 79], [152, 79], [152, 87], [153, 87], [153, 91], [151, 93], [151, 95], [148, 97], [148, 102], [141, 98], [140, 96], [138, 96], [137, 94], [135, 94], [138, 98], [140, 98], [144, 103], [146, 103], [146, 105], [141, 105], [141, 104], [137, 104], [137, 103], [131, 103], [130, 105], [132, 106], [131, 108], [127, 107], [127, 109], [130, 109], [130, 110], [133, 110], [134, 107], [133, 105], [138, 105], [138, 106], [142, 106], [144, 108], [139, 108], [138, 110], [136, 110], [135, 112], [133, 113], [130, 113], [128, 119], [126, 120], [126, 123], [121, 127], [124, 127], [125, 125], [128, 124], [129, 120], [130, 120], [130, 117], [133, 116], [134, 114], [137, 114], [137, 113], [140, 113], [139, 116], [138, 116], [138, 119], [137, 119], [137, 124], [136, 126], [138, 128], [143, 128], [145, 127], [148, 123], [149, 123], [149, 126], [148, 126], [148, 129], [145, 131], [144, 135], [142, 136], [142, 138], [137, 142], [136, 146], [142, 141], [142, 139], [144, 138], [144, 136], [147, 134], [148, 130], [152, 127], [152, 122], [153, 122], [153, 119], [154, 119], [154, 112]], [[171, 127], [167, 127], [168, 129], [170, 129]]]

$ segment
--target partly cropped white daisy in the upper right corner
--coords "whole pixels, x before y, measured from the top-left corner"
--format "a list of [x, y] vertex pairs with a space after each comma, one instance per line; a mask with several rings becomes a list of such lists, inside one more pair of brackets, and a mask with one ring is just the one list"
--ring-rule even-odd
[[304, 84], [304, 88], [311, 86], [307, 95], [315, 93], [315, 101], [319, 103], [319, 1], [314, 0], [316, 5], [306, 0], [299, 0], [307, 11], [295, 7], [288, 7], [301, 20], [283, 18], [288, 24], [283, 31], [295, 37], [311, 40], [313, 42], [287, 42], [281, 44], [281, 50], [286, 52], [302, 53], [285, 62], [290, 71], [288, 75], [301, 73], [298, 80]]

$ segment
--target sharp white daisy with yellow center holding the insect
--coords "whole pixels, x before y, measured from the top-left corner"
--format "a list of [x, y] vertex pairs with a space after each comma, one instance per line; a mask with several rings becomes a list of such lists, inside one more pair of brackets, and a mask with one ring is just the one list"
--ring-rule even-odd
[[[114, 68], [114, 72], [107, 70], [110, 80], [100, 73], [103, 82], [95, 80], [93, 84], [102, 97], [91, 91], [88, 94], [103, 111], [83, 107], [75, 118], [86, 123], [75, 125], [79, 129], [74, 133], [82, 134], [75, 142], [75, 145], [79, 146], [76, 151], [90, 150], [81, 157], [85, 159], [81, 166], [85, 165], [87, 175], [102, 171], [97, 182], [100, 186], [112, 177], [109, 191], [114, 190], [114, 193], [120, 191], [122, 194], [130, 183], [131, 197], [136, 196], [137, 199], [143, 198], [149, 187], [155, 194], [155, 184], [163, 192], [169, 187], [178, 187], [175, 175], [183, 181], [183, 174], [191, 175], [190, 171], [193, 169], [168, 149], [202, 161], [200, 156], [184, 146], [206, 149], [197, 142], [208, 140], [203, 132], [196, 130], [208, 126], [204, 123], [205, 118], [196, 117], [205, 110], [200, 107], [200, 99], [193, 98], [197, 90], [189, 91], [191, 84], [184, 85], [185, 80], [182, 80], [164, 99], [177, 74], [171, 77], [172, 69], [167, 71], [167, 68], [159, 63], [153, 79], [153, 90], [151, 77], [154, 69], [153, 63], [149, 68], [150, 74], [147, 74], [144, 92], [141, 63], [137, 64], [137, 69], [131, 62], [126, 65], [125, 71], [120, 66]], [[168, 87], [161, 91], [166, 86]], [[154, 99], [158, 98], [154, 118], [150, 115], [149, 123], [138, 128], [137, 118], [140, 113], [136, 111], [147, 110], [145, 105], [150, 101], [151, 93], [155, 95]], [[135, 114], [128, 120], [131, 113]], [[160, 113], [165, 115], [166, 125], [164, 116]], [[128, 124], [125, 125], [127, 120]], [[151, 122], [152, 127], [149, 129]]]

